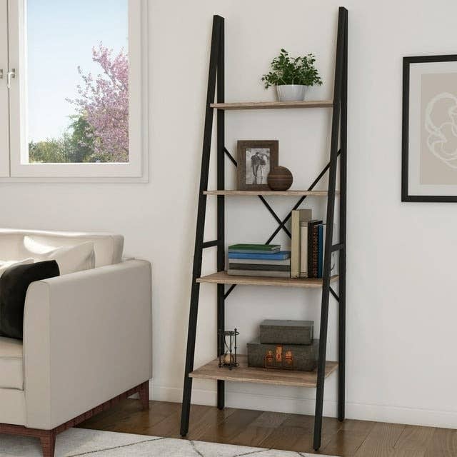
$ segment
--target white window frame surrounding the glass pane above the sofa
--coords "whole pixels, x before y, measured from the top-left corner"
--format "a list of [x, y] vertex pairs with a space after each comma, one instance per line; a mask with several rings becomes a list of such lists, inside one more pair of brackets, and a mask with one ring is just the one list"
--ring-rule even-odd
[[[4, 151], [9, 151], [9, 154], [3, 154], [3, 151], [0, 154], [0, 181], [147, 182], [148, 1], [129, 0], [129, 163], [127, 164], [25, 163], [29, 154], [26, 131], [26, 0], [0, 0], [0, 9], [4, 9], [4, 4], [7, 4], [8, 8], [9, 65], [6, 69], [10, 71], [15, 69], [15, 77], [11, 79], [9, 94], [7, 91], [9, 147]], [[3, 17], [4, 15], [0, 14], [0, 35], [4, 29]], [[4, 49], [1, 49], [0, 44], [0, 63], [3, 53]], [[6, 71], [4, 71], [5, 75]], [[49, 74], [49, 77], [52, 77], [52, 69], [49, 69]], [[6, 76], [3, 80], [0, 79], [0, 85], [0, 111], [4, 111]], [[8, 111], [7, 106], [5, 111]], [[0, 118], [0, 139], [3, 136], [4, 122]]]

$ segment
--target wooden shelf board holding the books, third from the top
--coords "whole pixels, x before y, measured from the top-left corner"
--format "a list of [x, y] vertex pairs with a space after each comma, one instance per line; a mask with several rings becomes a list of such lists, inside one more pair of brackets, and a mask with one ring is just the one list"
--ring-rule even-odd
[[[330, 281], [336, 281], [338, 275]], [[299, 288], [321, 288], [322, 278], [268, 278], [266, 276], [233, 276], [226, 271], [219, 271], [197, 279], [198, 283], [244, 284], [246, 286], [283, 286]]]

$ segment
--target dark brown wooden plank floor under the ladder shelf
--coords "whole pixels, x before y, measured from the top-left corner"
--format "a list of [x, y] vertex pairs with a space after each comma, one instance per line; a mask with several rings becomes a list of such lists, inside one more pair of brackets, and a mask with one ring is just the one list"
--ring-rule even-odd
[[[180, 438], [181, 405], [152, 401], [141, 411], [126, 400], [81, 428]], [[313, 417], [213, 406], [191, 407], [189, 439], [313, 452]], [[321, 453], [353, 457], [457, 457], [457, 431], [395, 423], [324, 418]]]

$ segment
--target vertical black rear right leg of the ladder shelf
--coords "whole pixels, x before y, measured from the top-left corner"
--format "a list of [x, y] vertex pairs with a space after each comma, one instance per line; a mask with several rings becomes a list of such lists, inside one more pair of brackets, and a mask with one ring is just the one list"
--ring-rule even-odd
[[347, 182], [347, 104], [348, 104], [348, 18], [344, 24], [343, 86], [341, 89], [340, 156], [340, 240], [339, 314], [338, 314], [338, 420], [345, 416], [346, 397], [346, 182]]

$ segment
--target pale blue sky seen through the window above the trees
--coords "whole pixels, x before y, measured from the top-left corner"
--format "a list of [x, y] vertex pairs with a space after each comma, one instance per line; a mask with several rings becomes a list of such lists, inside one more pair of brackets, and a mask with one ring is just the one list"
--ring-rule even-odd
[[84, 73], [99, 74], [92, 47], [128, 51], [128, 0], [27, 0], [29, 140], [61, 136]]

